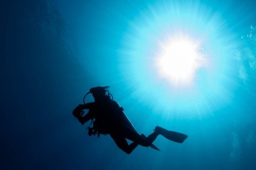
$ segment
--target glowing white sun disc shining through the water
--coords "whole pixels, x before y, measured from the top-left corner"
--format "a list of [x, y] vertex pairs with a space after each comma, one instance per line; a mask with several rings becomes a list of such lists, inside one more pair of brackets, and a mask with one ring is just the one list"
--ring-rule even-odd
[[175, 85], [191, 85], [205, 62], [201, 44], [184, 35], [169, 36], [158, 44], [155, 60], [158, 75]]

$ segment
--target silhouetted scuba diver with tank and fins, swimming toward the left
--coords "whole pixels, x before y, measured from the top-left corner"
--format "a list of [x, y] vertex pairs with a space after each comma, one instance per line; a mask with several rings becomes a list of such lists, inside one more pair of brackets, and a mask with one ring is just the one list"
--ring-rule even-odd
[[[113, 100], [113, 95], [108, 91], [107, 87], [94, 87], [91, 88], [86, 95], [92, 93], [94, 102], [79, 104], [73, 110], [73, 116], [79, 120], [81, 124], [85, 124], [92, 120], [88, 129], [90, 136], [98, 134], [110, 134], [111, 138], [115, 141], [117, 146], [125, 153], [130, 154], [138, 145], [150, 146], [158, 151], [152, 142], [156, 140], [158, 135], [174, 142], [182, 143], [188, 136], [179, 132], [173, 132], [156, 126], [154, 132], [149, 136], [138, 134], [122, 107]], [[84, 95], [84, 99], [86, 98]], [[88, 114], [84, 115], [84, 110], [88, 110]], [[91, 125], [93, 125], [91, 127]], [[127, 142], [131, 140], [131, 144]]]

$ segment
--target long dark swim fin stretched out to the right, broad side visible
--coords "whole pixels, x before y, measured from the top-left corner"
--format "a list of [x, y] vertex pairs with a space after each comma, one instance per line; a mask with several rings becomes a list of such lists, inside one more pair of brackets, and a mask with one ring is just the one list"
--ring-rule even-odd
[[187, 134], [166, 130], [164, 128], [161, 128], [160, 126], [156, 126], [155, 132], [158, 132], [168, 140], [172, 140], [173, 142], [178, 143], [183, 143], [184, 140], [188, 137]]

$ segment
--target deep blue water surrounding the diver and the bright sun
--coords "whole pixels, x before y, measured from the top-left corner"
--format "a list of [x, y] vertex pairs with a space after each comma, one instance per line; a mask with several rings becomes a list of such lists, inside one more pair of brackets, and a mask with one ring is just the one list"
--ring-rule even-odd
[[[0, 169], [256, 169], [254, 1], [1, 2]], [[211, 67], [170, 85], [150, 67], [156, 40], [202, 40]], [[138, 130], [183, 132], [183, 144], [131, 155], [88, 136], [71, 112], [110, 86]], [[92, 96], [86, 101], [92, 101]]]

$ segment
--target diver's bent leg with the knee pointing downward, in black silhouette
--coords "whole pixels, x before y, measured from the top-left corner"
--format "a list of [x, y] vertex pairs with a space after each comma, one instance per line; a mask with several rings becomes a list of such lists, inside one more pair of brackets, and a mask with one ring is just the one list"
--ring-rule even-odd
[[110, 136], [111, 138], [113, 138], [117, 146], [119, 146], [119, 148], [121, 148], [121, 150], [125, 151], [125, 153], [127, 154], [130, 154], [138, 146], [137, 142], [132, 142], [131, 144], [128, 144], [127, 140], [119, 134], [110, 133]]

